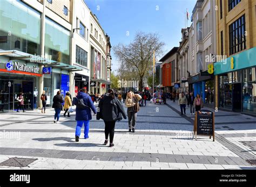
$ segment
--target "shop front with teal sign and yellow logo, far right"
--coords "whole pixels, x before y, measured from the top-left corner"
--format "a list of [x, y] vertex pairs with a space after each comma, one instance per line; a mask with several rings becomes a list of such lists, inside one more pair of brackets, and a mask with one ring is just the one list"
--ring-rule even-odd
[[256, 116], [256, 47], [214, 64], [220, 109]]

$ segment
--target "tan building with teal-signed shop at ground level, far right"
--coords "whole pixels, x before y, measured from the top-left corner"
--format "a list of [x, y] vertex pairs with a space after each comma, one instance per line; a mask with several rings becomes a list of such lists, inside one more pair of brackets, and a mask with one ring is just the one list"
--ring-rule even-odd
[[217, 1], [215, 107], [256, 115], [256, 1]]

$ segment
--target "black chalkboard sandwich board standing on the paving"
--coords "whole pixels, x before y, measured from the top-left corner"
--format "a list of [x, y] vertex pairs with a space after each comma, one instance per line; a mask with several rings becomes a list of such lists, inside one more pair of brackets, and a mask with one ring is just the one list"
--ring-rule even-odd
[[200, 110], [196, 112], [196, 117], [194, 118], [194, 135], [205, 135], [213, 136], [213, 141], [215, 138], [214, 135], [214, 112], [210, 110]]

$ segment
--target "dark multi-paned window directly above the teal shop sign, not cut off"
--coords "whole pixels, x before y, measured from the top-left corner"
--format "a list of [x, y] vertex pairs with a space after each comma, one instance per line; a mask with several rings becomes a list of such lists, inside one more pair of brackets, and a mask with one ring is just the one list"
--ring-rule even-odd
[[245, 15], [230, 24], [229, 29], [230, 55], [246, 49]]

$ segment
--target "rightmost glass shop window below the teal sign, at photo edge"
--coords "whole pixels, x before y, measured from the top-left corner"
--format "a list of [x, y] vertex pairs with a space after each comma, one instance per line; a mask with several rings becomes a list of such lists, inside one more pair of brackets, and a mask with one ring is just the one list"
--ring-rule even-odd
[[242, 70], [242, 110], [256, 112], [256, 68]]

